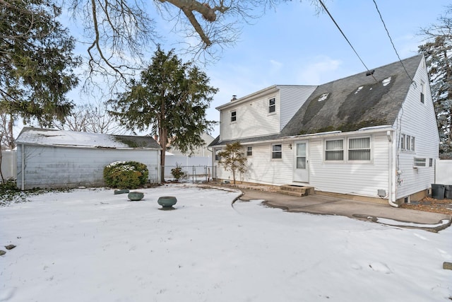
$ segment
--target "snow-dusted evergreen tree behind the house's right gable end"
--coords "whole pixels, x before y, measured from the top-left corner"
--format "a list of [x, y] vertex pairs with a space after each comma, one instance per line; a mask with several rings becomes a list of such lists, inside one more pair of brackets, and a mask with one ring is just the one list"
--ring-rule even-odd
[[439, 23], [422, 30], [427, 42], [419, 52], [427, 61], [432, 98], [438, 121], [441, 157], [452, 157], [452, 6]]

